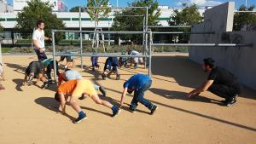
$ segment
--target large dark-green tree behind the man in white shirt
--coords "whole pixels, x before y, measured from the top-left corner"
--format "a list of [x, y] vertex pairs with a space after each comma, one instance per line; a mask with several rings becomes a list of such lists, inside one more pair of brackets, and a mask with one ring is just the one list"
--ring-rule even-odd
[[[17, 25], [15, 28], [21, 33], [32, 33], [36, 27], [38, 20], [44, 20], [45, 36], [51, 36], [51, 30], [64, 29], [65, 25], [62, 20], [59, 20], [56, 14], [52, 13], [52, 5], [49, 2], [44, 3], [41, 0], [27, 1], [27, 6], [22, 9], [17, 15]], [[61, 40], [61, 33], [56, 33], [55, 41], [58, 43]], [[30, 37], [31, 38], [31, 37]]]

